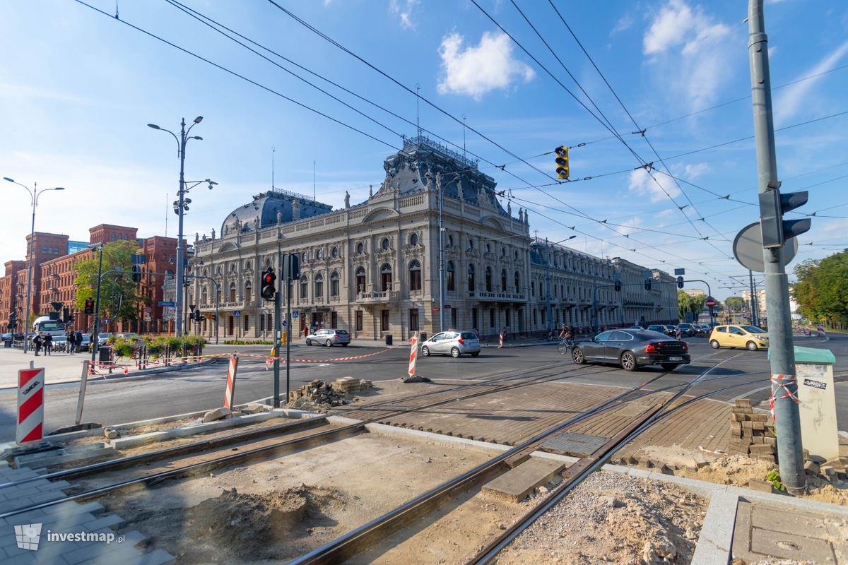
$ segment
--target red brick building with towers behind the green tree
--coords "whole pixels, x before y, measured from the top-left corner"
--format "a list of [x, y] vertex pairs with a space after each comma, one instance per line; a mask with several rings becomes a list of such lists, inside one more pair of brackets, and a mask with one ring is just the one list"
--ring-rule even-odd
[[[5, 274], [0, 278], [0, 322], [6, 322], [11, 313], [18, 314], [18, 319], [25, 319], [27, 267], [30, 252], [30, 236], [27, 235], [25, 261], [7, 261]], [[146, 305], [141, 305], [137, 321], [109, 324], [104, 330], [159, 332], [167, 331], [168, 324], [162, 323], [162, 310], [159, 301], [162, 300], [162, 285], [164, 274], [174, 272], [176, 262], [176, 238], [154, 235], [145, 239], [137, 237], [137, 228], [113, 224], [99, 224], [89, 230], [89, 241], [71, 241], [67, 235], [36, 232], [33, 246], [32, 296], [31, 310], [39, 314], [53, 311], [51, 302], [63, 302], [74, 315], [73, 326], [77, 330], [89, 330], [93, 324], [93, 316], [76, 310], [76, 274], [75, 267], [80, 261], [92, 258], [95, 253], [87, 245], [109, 243], [110, 241], [135, 241], [147, 258], [147, 264], [142, 265], [140, 292], [145, 296]], [[70, 247], [70, 252], [69, 252]], [[150, 309], [148, 313], [146, 308]], [[149, 322], [146, 316], [149, 315]], [[5, 324], [3, 323], [3, 326]], [[22, 326], [18, 326], [20, 331]]]

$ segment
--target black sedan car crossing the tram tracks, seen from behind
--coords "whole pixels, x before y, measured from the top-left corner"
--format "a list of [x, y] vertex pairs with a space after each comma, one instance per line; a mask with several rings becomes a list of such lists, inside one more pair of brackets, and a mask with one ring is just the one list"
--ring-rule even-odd
[[577, 341], [572, 349], [574, 363], [615, 363], [626, 371], [646, 365], [660, 365], [671, 371], [689, 363], [685, 341], [670, 340], [666, 335], [646, 330], [611, 330], [591, 340]]

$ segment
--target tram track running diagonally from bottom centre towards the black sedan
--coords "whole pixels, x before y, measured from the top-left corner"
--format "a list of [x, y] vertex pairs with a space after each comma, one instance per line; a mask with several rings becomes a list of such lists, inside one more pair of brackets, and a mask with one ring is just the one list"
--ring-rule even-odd
[[[616, 437], [612, 438], [607, 444], [600, 448], [597, 451], [597, 455], [593, 454], [591, 457], [585, 458], [585, 460], [579, 460], [575, 465], [572, 465], [569, 468], [566, 468], [566, 476], [569, 476], [570, 479], [564, 481], [556, 490], [555, 494], [559, 496], [557, 499], [560, 500], [562, 496], [566, 496], [567, 492], [572, 490], [574, 486], [578, 485], [583, 479], [585, 479], [589, 474], [591, 474], [595, 469], [600, 468], [600, 466], [605, 463], [605, 461], [621, 446], [626, 445], [629, 441], [633, 440], [639, 434], [644, 432], [645, 429], [648, 429], [651, 425], [655, 424], [659, 421], [659, 418], [663, 413], [670, 414], [667, 412], [669, 408], [672, 406], [674, 402], [677, 402], [689, 389], [698, 384], [701, 379], [703, 379], [707, 374], [709, 374], [713, 369], [717, 368], [722, 363], [727, 362], [728, 360], [737, 357], [728, 357], [722, 359], [721, 361], [714, 363], [710, 368], [707, 368], [706, 371], [696, 375], [693, 379], [690, 379], [688, 382], [680, 384], [680, 385], [672, 385], [670, 387], [666, 387], [667, 389], [680, 388], [680, 391], [676, 392], [672, 395], [666, 402], [663, 402], [660, 407], [656, 407], [648, 413], [645, 413], [642, 417], [640, 417], [637, 421], [634, 421], [632, 424], [628, 425], [627, 428], [623, 429]], [[599, 405], [589, 409], [588, 411], [578, 414], [572, 418], [568, 418], [560, 424], [555, 425], [554, 427], [544, 430], [533, 438], [522, 442], [522, 444], [517, 445], [511, 448], [509, 451], [505, 451], [496, 457], [492, 457], [487, 462], [478, 465], [476, 468], [472, 468], [466, 473], [460, 474], [454, 479], [450, 479], [438, 487], [428, 490], [421, 496], [416, 496], [416, 498], [412, 499], [404, 503], [403, 505], [394, 508], [393, 510], [383, 514], [379, 518], [375, 518], [371, 520], [369, 523], [365, 523], [359, 528], [353, 529], [349, 531], [347, 534], [338, 537], [336, 540], [332, 540], [326, 543], [323, 546], [316, 548], [313, 551], [310, 551], [303, 556], [300, 556], [293, 561], [290, 562], [290, 565], [319, 565], [319, 564], [329, 564], [329, 563], [339, 563], [344, 562], [350, 557], [354, 557], [362, 551], [367, 550], [368, 548], [377, 546], [381, 540], [385, 540], [389, 535], [392, 535], [394, 532], [402, 529], [404, 526], [415, 522], [419, 518], [426, 516], [430, 512], [433, 512], [436, 508], [441, 506], [447, 501], [455, 499], [456, 496], [460, 495], [460, 493], [470, 489], [475, 485], [479, 485], [483, 483], [489, 477], [494, 476], [495, 474], [499, 474], [501, 471], [504, 471], [505, 468], [508, 467], [510, 462], [518, 463], [522, 461], [524, 458], [529, 456], [529, 453], [535, 451], [539, 444], [541, 444], [544, 440], [550, 438], [553, 435], [560, 433], [561, 431], [569, 428], [570, 426], [577, 424], [578, 422], [582, 422], [587, 418], [591, 418], [607, 409], [612, 407], [613, 405], [620, 404], [622, 402], [630, 402], [632, 400], [636, 400], [638, 398], [643, 398], [644, 396], [648, 396], [651, 394], [656, 394], [659, 391], [648, 391], [644, 394], [639, 394], [639, 396], [635, 396], [634, 398], [628, 399], [628, 401], [624, 401], [626, 396], [633, 395], [634, 393], [639, 393], [640, 391], [644, 391], [644, 388], [647, 385], [655, 382], [658, 379], [661, 379], [663, 376], [666, 376], [667, 373], [661, 373], [657, 375], [654, 379], [650, 379], [649, 381], [643, 383], [642, 385], [635, 386], [627, 391], [622, 391], [620, 394], [613, 396], [611, 399], [606, 400], [605, 402], [601, 402]], [[739, 377], [740, 375], [728, 375], [727, 377]], [[734, 386], [741, 386], [745, 384], [731, 385], [728, 388], [733, 388]], [[707, 396], [711, 396], [717, 394], [718, 391], [711, 391], [701, 395], [698, 399]], [[690, 402], [695, 402], [690, 401]], [[688, 404], [688, 402], [684, 403]], [[681, 406], [675, 407], [673, 410], [678, 410]], [[523, 529], [526, 529], [530, 523], [541, 516], [544, 512], [547, 511], [548, 508], [553, 506], [556, 501], [551, 502], [554, 496], [554, 493], [551, 494], [544, 501], [544, 505], [542, 508], [538, 509], [536, 512], [528, 513], [527, 516], [522, 517], [516, 524], [513, 524], [513, 527], [507, 529], [504, 535], [499, 536], [498, 540], [493, 541], [489, 546], [483, 549], [483, 551], [475, 557], [475, 560], [471, 562], [490, 562], [494, 556], [502, 549], [506, 544], [509, 543], [510, 540], [514, 539], [516, 535], [518, 535]], [[511, 535], [511, 537], [506, 540], [506, 537]]]

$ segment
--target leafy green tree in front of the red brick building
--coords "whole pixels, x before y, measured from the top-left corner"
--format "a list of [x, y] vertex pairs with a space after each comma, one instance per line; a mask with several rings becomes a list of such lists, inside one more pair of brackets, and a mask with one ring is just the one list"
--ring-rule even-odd
[[[132, 270], [132, 254], [138, 249], [134, 241], [111, 241], [103, 246], [103, 273], [109, 270]], [[94, 300], [98, 289], [98, 253], [91, 259], [76, 263], [75, 307], [82, 310], [86, 300]], [[100, 316], [110, 318], [135, 318], [137, 303], [144, 302], [137, 283], [129, 274], [109, 273], [100, 283]]]

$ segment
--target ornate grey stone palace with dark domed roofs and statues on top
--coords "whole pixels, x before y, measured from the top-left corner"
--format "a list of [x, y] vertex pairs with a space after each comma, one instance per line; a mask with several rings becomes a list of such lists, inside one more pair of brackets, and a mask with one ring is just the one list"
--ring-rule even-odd
[[[282, 253], [301, 257], [293, 325], [343, 328], [354, 337], [407, 339], [410, 332], [477, 329], [480, 335], [545, 332], [550, 325], [676, 323], [673, 278], [622, 259], [596, 258], [530, 236], [530, 214], [504, 209], [494, 180], [477, 163], [426, 137], [404, 139], [384, 163], [385, 180], [365, 202], [332, 210], [287, 191], [267, 191], [233, 210], [209, 238], [194, 243], [187, 301], [204, 314], [218, 301], [220, 336], [270, 339], [273, 303], [259, 296], [266, 267], [279, 274]], [[439, 197], [442, 202], [439, 202]], [[444, 271], [439, 224], [444, 225]], [[439, 309], [440, 272], [444, 310]], [[208, 278], [204, 278], [208, 277]], [[215, 280], [217, 285], [212, 282]], [[660, 284], [663, 283], [663, 284]], [[284, 285], [277, 280], [277, 288]], [[216, 287], [220, 296], [216, 298]], [[549, 300], [550, 296], [550, 300]], [[284, 302], [285, 303], [285, 302]], [[204, 319], [191, 330], [215, 335]]]

